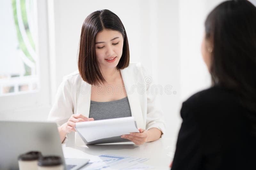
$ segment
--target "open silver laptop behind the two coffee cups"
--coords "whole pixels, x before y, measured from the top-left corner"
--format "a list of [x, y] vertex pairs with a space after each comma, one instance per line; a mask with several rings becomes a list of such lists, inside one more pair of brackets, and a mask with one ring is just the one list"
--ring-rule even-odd
[[89, 159], [64, 159], [55, 123], [0, 121], [0, 169], [19, 169], [18, 156], [30, 151], [60, 156], [68, 170], [79, 169], [89, 162]]

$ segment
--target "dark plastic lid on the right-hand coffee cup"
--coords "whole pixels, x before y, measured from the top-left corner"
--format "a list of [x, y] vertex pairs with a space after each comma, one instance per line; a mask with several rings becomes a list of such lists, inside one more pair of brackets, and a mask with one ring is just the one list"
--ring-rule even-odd
[[57, 166], [61, 165], [62, 161], [59, 156], [44, 156], [38, 160], [38, 166]]

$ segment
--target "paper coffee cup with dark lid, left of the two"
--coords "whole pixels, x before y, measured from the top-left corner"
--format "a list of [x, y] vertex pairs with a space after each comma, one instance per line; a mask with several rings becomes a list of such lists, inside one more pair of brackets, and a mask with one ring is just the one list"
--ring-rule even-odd
[[21, 154], [18, 157], [20, 170], [37, 170], [38, 159], [42, 156], [41, 152], [31, 151]]

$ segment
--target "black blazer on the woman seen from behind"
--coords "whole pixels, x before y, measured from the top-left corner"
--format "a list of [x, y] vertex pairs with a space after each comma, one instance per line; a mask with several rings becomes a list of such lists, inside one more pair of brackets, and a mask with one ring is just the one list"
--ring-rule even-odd
[[172, 170], [255, 170], [256, 139], [248, 112], [235, 92], [220, 86], [191, 96], [180, 111]]

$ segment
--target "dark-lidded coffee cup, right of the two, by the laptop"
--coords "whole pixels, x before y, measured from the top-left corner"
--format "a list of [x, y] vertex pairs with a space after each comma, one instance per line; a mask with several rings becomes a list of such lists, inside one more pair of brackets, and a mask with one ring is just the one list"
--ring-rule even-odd
[[59, 156], [44, 156], [38, 160], [38, 170], [64, 170], [62, 160]]

